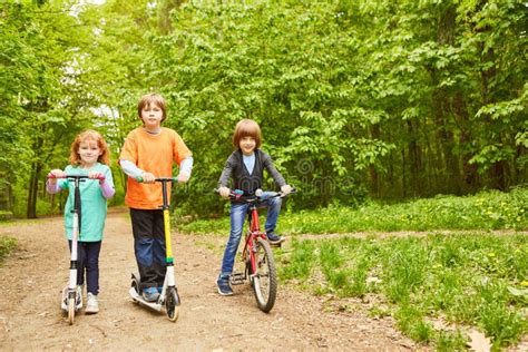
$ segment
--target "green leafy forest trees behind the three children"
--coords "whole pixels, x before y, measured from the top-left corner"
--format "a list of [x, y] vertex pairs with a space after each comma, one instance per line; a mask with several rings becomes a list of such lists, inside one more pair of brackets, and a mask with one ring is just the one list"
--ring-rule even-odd
[[[520, 0], [7, 0], [0, 3], [0, 209], [36, 217], [74, 136], [117, 156], [149, 91], [194, 153], [186, 214], [213, 194], [242, 118], [297, 207], [507, 190], [527, 182]], [[270, 185], [271, 187], [273, 185]]]

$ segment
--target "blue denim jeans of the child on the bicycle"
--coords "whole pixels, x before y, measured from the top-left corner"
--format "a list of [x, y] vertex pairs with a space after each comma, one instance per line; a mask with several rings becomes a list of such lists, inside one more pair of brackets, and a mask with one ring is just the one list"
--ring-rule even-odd
[[[266, 198], [266, 195], [274, 193], [264, 192], [262, 198]], [[258, 207], [267, 207], [266, 224], [264, 229], [266, 234], [271, 234], [275, 231], [278, 214], [281, 213], [282, 199], [278, 197], [266, 199]], [[232, 203], [231, 204], [231, 232], [229, 239], [224, 251], [224, 258], [222, 260], [221, 277], [227, 277], [233, 273], [233, 266], [235, 265], [235, 255], [238, 250], [238, 245], [242, 238], [242, 232], [244, 231], [244, 221], [246, 218], [247, 209], [250, 204], [247, 203]]]

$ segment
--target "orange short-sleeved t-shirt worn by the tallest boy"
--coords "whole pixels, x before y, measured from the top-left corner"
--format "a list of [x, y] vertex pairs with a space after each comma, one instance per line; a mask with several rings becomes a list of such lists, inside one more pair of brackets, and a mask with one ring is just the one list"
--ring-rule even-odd
[[[131, 162], [156, 177], [172, 177], [173, 162], [179, 165], [192, 155], [175, 130], [162, 127], [158, 135], [151, 135], [139, 127], [128, 134], [119, 159]], [[170, 195], [170, 184], [168, 194]], [[136, 209], [159, 208], [163, 205], [162, 184], [143, 184], [128, 177], [125, 204]]]

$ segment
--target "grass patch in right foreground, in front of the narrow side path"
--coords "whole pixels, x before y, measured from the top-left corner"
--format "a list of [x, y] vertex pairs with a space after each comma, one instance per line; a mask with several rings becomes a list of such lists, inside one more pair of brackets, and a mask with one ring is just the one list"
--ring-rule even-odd
[[[374, 295], [373, 311], [440, 350], [465, 349], [463, 326], [479, 327], [496, 349], [528, 333], [526, 235], [294, 239], [276, 254], [282, 280], [314, 294]], [[434, 329], [439, 319], [457, 329]]]

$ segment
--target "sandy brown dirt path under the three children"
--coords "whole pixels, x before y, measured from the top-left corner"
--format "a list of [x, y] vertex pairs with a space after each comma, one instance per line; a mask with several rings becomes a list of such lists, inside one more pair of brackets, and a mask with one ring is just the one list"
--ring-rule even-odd
[[219, 296], [215, 278], [225, 238], [174, 234], [182, 309], [176, 323], [134, 304], [128, 296], [136, 271], [127, 213], [113, 212], [100, 255], [100, 312], [80, 313], [68, 325], [59, 309], [68, 278], [68, 246], [62, 218], [20, 221], [0, 226], [18, 238], [0, 267], [0, 350], [233, 351], [369, 350], [407, 351], [417, 346], [392, 326], [364, 312], [329, 312], [324, 299], [280, 285], [264, 314], [248, 285]]

